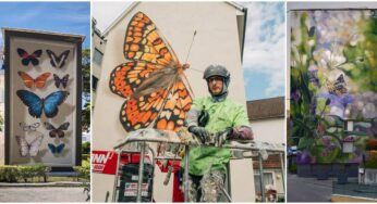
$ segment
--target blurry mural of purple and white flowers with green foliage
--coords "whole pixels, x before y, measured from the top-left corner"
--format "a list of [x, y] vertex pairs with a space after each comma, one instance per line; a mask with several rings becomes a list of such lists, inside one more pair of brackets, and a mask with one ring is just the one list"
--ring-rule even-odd
[[365, 143], [377, 138], [377, 10], [290, 15], [297, 164], [361, 163]]

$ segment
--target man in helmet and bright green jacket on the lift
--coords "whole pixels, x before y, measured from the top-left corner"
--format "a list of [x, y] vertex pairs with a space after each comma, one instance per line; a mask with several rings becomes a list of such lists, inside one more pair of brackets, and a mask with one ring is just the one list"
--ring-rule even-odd
[[[226, 140], [252, 140], [253, 131], [244, 106], [227, 99], [230, 82], [227, 68], [209, 65], [203, 78], [207, 81], [210, 97], [194, 100], [186, 118], [188, 131], [199, 138], [202, 143], [220, 141], [220, 138], [212, 137], [223, 130], [228, 130]], [[202, 116], [207, 118], [204, 125], [199, 123]], [[230, 157], [231, 151], [226, 148], [200, 145], [190, 150], [190, 202], [218, 201]]]

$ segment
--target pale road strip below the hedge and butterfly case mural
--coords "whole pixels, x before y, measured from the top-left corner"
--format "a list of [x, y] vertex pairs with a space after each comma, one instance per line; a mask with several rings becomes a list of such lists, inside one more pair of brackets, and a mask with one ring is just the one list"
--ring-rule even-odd
[[85, 202], [77, 187], [0, 187], [1, 202]]

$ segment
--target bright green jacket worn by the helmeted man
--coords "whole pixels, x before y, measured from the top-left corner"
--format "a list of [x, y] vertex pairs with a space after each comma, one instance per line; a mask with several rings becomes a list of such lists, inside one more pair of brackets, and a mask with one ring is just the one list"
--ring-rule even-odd
[[[192, 109], [206, 110], [209, 120], [206, 129], [209, 132], [218, 132], [228, 127], [248, 126], [248, 117], [244, 106], [226, 99], [222, 102], [214, 102], [211, 97], [195, 99]], [[202, 176], [209, 168], [220, 169], [226, 173], [231, 151], [226, 148], [195, 146], [190, 150], [188, 173]], [[181, 166], [184, 166], [183, 161]]]

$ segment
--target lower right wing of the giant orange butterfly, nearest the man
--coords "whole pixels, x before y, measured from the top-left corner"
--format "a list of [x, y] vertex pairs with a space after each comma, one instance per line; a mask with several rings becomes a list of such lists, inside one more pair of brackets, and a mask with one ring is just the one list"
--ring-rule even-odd
[[178, 79], [169, 92], [168, 100], [158, 115], [154, 128], [178, 131], [184, 125], [192, 102], [185, 85]]

